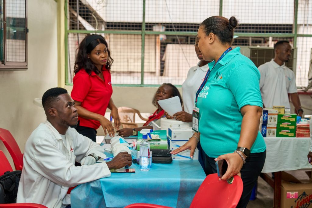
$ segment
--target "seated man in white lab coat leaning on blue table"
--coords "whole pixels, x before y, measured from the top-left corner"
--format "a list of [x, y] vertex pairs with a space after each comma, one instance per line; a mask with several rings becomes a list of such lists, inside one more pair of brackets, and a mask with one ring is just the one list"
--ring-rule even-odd
[[[112, 161], [95, 163], [106, 158], [103, 148], [73, 128], [78, 113], [67, 90], [49, 89], [42, 97], [42, 105], [46, 122], [26, 142], [17, 203], [66, 207], [70, 204], [68, 187], [109, 177], [110, 169], [131, 166], [127, 152], [119, 153]], [[82, 166], [75, 166], [75, 161]]]

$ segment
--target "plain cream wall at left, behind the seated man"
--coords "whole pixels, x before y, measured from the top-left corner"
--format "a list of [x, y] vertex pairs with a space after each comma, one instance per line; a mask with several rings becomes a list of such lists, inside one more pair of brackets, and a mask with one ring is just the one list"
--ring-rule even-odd
[[[31, 0], [28, 5], [28, 69], [0, 71], [0, 127], [9, 130], [21, 151], [31, 132], [45, 121], [33, 99], [57, 87], [57, 15], [54, 0]], [[0, 142], [0, 150], [6, 148]]]

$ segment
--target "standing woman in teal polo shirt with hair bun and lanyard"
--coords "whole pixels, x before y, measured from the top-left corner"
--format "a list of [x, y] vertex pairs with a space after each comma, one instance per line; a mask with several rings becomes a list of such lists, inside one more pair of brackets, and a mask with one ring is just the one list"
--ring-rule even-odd
[[232, 49], [235, 17], [230, 20], [213, 16], [204, 20], [198, 29], [198, 47], [209, 63], [204, 82], [197, 91], [199, 108], [198, 133], [182, 147], [194, 150], [200, 140], [205, 151], [206, 166], [216, 173], [215, 161], [224, 159], [228, 169], [222, 180], [241, 174], [243, 193], [237, 207], [246, 207], [253, 186], [264, 165], [266, 144], [259, 132], [262, 99], [260, 73], [250, 59]]

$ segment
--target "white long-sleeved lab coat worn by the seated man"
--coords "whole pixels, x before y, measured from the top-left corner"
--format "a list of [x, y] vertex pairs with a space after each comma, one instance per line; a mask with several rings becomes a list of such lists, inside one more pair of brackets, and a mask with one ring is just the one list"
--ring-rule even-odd
[[74, 128], [68, 128], [63, 140], [50, 122], [41, 123], [25, 145], [17, 203], [38, 203], [49, 208], [70, 204], [68, 187], [110, 176], [105, 162], [75, 166], [75, 161], [91, 153], [106, 158], [103, 152], [100, 145]]

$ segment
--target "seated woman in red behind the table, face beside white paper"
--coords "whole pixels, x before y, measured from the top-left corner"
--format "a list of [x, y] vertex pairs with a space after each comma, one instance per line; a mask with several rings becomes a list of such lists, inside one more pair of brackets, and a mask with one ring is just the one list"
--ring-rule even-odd
[[[142, 127], [137, 128], [123, 128], [118, 130], [119, 136], [121, 137], [128, 137], [128, 136], [136, 136], [138, 135], [138, 131], [142, 129], [153, 129], [153, 126], [150, 126], [151, 121], [157, 121], [160, 118], [164, 117], [164, 110], [159, 106], [158, 101], [168, 99], [170, 97], [178, 96], [180, 98], [180, 102], [182, 105], [182, 98], [180, 92], [178, 91], [177, 87], [170, 83], [162, 84], [155, 93], [155, 96], [152, 100], [154, 106], [157, 107], [157, 110], [153, 113], [153, 115], [149, 116], [149, 120], [144, 123]], [[160, 121], [160, 120], [159, 120]]]

